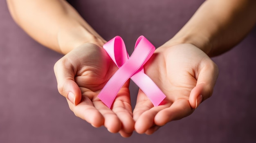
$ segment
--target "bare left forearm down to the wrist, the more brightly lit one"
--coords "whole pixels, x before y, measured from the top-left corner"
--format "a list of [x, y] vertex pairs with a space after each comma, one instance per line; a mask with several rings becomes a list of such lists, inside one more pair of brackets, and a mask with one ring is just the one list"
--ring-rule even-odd
[[98, 46], [105, 42], [65, 0], [7, 0], [7, 4], [22, 29], [59, 53], [87, 42]]

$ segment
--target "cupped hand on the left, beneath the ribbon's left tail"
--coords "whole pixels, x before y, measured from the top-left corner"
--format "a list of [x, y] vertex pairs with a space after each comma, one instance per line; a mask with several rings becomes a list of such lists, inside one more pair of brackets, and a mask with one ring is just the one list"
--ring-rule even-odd
[[77, 117], [94, 127], [104, 125], [109, 132], [128, 137], [134, 130], [129, 81], [119, 91], [112, 110], [97, 96], [117, 66], [103, 48], [83, 44], [67, 53], [54, 65], [58, 91], [67, 98]]

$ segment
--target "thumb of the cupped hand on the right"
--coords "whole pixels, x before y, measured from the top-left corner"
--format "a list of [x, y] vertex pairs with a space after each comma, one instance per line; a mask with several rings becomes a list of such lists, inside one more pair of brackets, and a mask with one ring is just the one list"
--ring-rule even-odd
[[197, 83], [189, 96], [189, 103], [193, 109], [197, 108], [202, 101], [211, 97], [218, 78], [218, 66], [211, 59], [209, 60], [199, 66]]

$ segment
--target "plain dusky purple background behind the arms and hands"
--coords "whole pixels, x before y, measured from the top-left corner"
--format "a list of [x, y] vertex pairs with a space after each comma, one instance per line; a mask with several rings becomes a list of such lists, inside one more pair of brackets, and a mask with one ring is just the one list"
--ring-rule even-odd
[[[156, 47], [169, 40], [204, 0], [73, 0], [106, 40], [123, 37], [132, 52], [139, 35]], [[58, 94], [53, 65], [62, 55], [23, 32], [0, 1], [0, 143], [252, 143], [256, 142], [256, 29], [214, 57], [220, 75], [213, 96], [153, 135], [130, 138], [94, 128]], [[134, 106], [135, 84], [131, 84]]]

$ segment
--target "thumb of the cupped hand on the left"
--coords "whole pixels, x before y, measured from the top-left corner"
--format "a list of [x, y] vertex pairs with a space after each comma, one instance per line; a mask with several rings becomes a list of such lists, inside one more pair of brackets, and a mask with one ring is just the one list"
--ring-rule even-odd
[[58, 84], [58, 92], [74, 105], [79, 104], [81, 101], [81, 90], [74, 81], [76, 73], [72, 64], [62, 58], [54, 65], [54, 73]]

